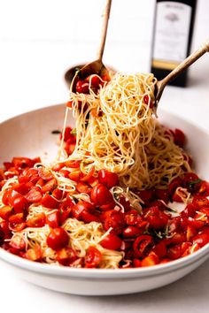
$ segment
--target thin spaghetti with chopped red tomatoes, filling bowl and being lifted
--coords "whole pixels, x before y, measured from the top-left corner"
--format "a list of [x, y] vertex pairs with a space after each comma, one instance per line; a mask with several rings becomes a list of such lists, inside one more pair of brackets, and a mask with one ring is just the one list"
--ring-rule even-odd
[[78, 81], [53, 164], [14, 157], [0, 172], [3, 248], [42, 263], [115, 269], [172, 261], [209, 241], [209, 185], [191, 170], [184, 134], [155, 118], [155, 83], [142, 73]]

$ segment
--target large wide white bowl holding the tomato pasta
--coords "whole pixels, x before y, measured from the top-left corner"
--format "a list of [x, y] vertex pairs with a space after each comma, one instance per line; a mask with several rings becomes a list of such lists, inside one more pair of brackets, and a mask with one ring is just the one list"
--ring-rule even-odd
[[[59, 104], [30, 111], [11, 118], [0, 126], [0, 164], [13, 156], [41, 156], [52, 160], [58, 151], [58, 135], [65, 116], [65, 105]], [[196, 170], [209, 179], [209, 134], [182, 118], [159, 111], [161, 123], [181, 128], [189, 138], [188, 149], [196, 161]], [[69, 125], [74, 120], [69, 118]], [[209, 244], [190, 256], [147, 268], [104, 270], [76, 269], [27, 261], [0, 248], [0, 259], [20, 278], [35, 285], [68, 294], [132, 294], [165, 286], [195, 270], [209, 257]]]

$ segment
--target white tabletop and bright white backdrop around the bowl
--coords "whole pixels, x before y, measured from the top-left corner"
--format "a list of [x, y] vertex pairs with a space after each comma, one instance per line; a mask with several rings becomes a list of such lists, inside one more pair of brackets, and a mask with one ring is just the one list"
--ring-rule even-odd
[[[113, 0], [104, 64], [120, 71], [149, 71], [154, 3]], [[104, 0], [0, 0], [0, 122], [67, 101], [63, 75], [71, 65], [95, 59], [103, 4]], [[208, 11], [209, 2], [198, 0], [193, 50], [209, 38]], [[205, 55], [190, 68], [188, 87], [167, 87], [160, 107], [209, 131], [208, 73]], [[206, 313], [208, 272], [209, 261], [151, 292], [86, 297], [33, 286], [0, 263], [0, 305], [8, 313]]]

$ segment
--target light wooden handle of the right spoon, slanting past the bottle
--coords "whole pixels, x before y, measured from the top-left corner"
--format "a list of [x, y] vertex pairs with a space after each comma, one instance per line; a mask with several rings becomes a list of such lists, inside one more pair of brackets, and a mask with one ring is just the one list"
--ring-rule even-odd
[[199, 57], [202, 57], [205, 52], [209, 52], [209, 41], [205, 42], [198, 50], [193, 52], [189, 57], [185, 58], [180, 65], [176, 66], [171, 73], [161, 80], [162, 84], [166, 86], [168, 82], [174, 80], [176, 76], [185, 71], [190, 65], [197, 61]]

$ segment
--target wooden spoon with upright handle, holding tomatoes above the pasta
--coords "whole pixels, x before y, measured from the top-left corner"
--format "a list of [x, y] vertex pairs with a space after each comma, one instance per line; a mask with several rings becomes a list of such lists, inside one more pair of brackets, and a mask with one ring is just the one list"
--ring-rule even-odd
[[[75, 91], [76, 82], [78, 80], [84, 80], [91, 74], [97, 74], [99, 76], [103, 76], [109, 71], [104, 66], [102, 62], [103, 53], [104, 53], [104, 45], [107, 34], [108, 21], [111, 11], [112, 0], [106, 0], [104, 14], [103, 14], [103, 27], [101, 40], [99, 42], [99, 47], [97, 51], [97, 60], [93, 61], [87, 65], [76, 65], [73, 68], [69, 69], [65, 74], [66, 83], [72, 91]], [[81, 68], [79, 68], [81, 66]]]

